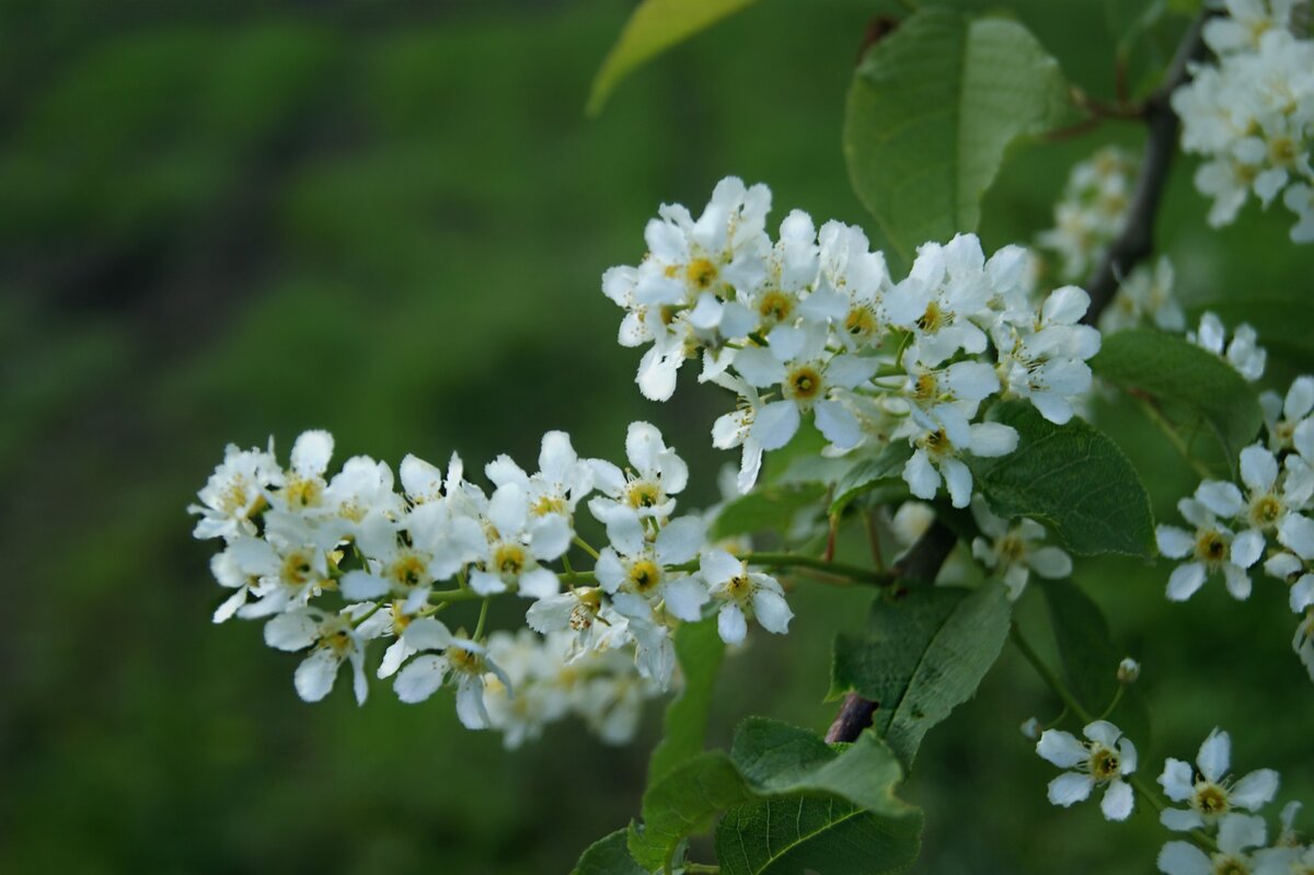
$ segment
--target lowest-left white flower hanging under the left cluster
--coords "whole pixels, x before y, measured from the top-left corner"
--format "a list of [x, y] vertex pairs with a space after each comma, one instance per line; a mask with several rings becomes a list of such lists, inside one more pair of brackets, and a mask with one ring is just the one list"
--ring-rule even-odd
[[310, 653], [297, 666], [293, 681], [297, 695], [319, 702], [332, 690], [338, 669], [351, 662], [356, 703], [365, 704], [365, 641], [382, 635], [386, 615], [371, 614], [373, 604], [350, 604], [340, 614], [315, 608], [296, 608], [280, 614], [264, 625], [264, 641], [279, 650]]

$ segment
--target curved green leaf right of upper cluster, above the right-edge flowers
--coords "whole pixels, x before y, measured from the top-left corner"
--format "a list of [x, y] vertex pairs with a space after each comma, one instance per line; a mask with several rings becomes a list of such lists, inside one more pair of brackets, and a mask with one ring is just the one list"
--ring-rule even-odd
[[1204, 424], [1235, 459], [1264, 423], [1255, 390], [1230, 365], [1184, 338], [1135, 328], [1104, 339], [1091, 368], [1116, 386], [1150, 395], [1181, 424]]

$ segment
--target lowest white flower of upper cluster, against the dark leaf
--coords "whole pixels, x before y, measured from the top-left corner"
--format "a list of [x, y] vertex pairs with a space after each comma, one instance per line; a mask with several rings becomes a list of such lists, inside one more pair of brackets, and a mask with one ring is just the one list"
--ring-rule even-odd
[[955, 405], [940, 405], [929, 411], [913, 407], [895, 431], [913, 445], [904, 464], [903, 478], [917, 498], [932, 499], [943, 482], [954, 507], [967, 507], [972, 498], [972, 473], [959, 459], [1007, 456], [1017, 448], [1017, 431], [993, 422], [970, 423]]

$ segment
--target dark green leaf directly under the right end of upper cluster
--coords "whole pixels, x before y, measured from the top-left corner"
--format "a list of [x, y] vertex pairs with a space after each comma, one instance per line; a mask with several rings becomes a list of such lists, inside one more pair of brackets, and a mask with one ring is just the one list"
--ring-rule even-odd
[[1008, 456], [968, 460], [996, 514], [1039, 520], [1081, 556], [1154, 556], [1150, 497], [1113, 440], [1081, 419], [1055, 426], [1026, 402], [992, 414], [1018, 432]]

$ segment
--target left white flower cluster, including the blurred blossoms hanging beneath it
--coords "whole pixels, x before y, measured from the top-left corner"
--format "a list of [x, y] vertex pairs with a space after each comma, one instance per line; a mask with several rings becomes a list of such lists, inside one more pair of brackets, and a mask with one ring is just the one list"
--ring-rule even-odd
[[[368, 646], [390, 639], [376, 673], [396, 675], [403, 702], [452, 687], [461, 721], [498, 728], [510, 745], [568, 713], [623, 741], [643, 700], [670, 684], [679, 623], [715, 610], [728, 642], [744, 640], [750, 617], [788, 628], [773, 577], [708, 544], [703, 518], [674, 518], [689, 472], [648, 423], [629, 426], [624, 469], [579, 459], [553, 431], [536, 473], [507, 456], [490, 462], [491, 491], [465, 480], [455, 455], [445, 476], [407, 456], [399, 490], [365, 456], [330, 477], [332, 449], [331, 435], [307, 431], [284, 468], [272, 443], [230, 445], [191, 507], [196, 537], [223, 541], [212, 570], [231, 595], [214, 621], [265, 619], [271, 646], [305, 653], [294, 681], [307, 702], [330, 692], [344, 663], [364, 702]], [[600, 552], [576, 535], [585, 499], [607, 531]], [[572, 544], [593, 570], [574, 570]], [[564, 570], [549, 568], [558, 561]], [[530, 602], [530, 628], [485, 633], [502, 594]], [[463, 602], [484, 604], [473, 633], [438, 617]]]

